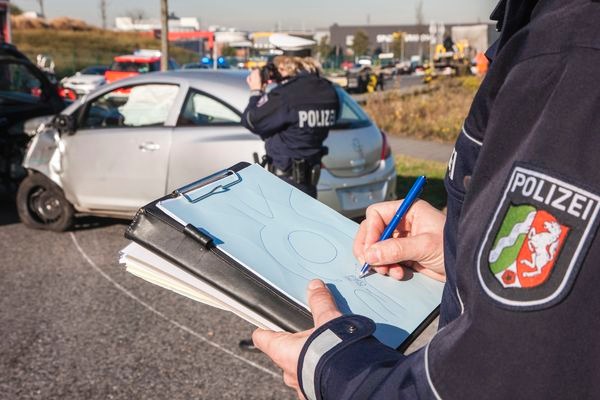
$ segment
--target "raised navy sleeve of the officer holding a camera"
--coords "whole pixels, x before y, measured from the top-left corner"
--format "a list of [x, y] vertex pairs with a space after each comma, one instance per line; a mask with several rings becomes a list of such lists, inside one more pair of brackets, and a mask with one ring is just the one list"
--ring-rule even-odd
[[250, 97], [242, 115], [242, 125], [263, 140], [282, 131], [289, 124], [288, 120], [288, 106], [277, 90]]

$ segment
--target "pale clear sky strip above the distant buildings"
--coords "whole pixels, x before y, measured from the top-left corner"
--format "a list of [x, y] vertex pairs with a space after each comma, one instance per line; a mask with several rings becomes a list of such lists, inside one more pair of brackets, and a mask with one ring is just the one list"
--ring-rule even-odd
[[[129, 10], [158, 17], [159, 0], [107, 0], [109, 26]], [[169, 0], [170, 11], [197, 17], [202, 26], [223, 25], [249, 30], [327, 28], [340, 25], [413, 24], [419, 0]], [[486, 22], [496, 0], [421, 0], [426, 22]], [[13, 0], [24, 10], [39, 10], [37, 0]], [[70, 16], [100, 25], [99, 0], [44, 0], [49, 18]]]

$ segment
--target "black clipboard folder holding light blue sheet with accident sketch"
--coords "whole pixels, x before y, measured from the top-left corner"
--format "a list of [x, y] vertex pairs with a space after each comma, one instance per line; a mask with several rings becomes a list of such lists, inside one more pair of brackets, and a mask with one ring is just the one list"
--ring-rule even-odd
[[322, 279], [342, 313], [372, 318], [375, 336], [403, 350], [437, 315], [443, 284], [418, 273], [358, 279], [357, 229], [260, 166], [239, 163], [142, 207], [125, 236], [286, 331], [312, 328], [306, 286]]

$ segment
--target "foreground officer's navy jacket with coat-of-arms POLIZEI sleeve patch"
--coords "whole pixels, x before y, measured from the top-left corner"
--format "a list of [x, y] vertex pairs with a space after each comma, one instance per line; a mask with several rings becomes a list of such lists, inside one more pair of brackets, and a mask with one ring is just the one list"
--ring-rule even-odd
[[309, 399], [600, 398], [600, 2], [503, 3], [445, 179], [441, 329], [403, 356], [330, 321]]

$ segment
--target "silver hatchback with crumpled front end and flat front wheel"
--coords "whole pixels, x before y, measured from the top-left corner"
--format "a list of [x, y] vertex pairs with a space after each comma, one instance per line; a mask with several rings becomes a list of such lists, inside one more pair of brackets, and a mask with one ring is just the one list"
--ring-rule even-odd
[[[75, 213], [131, 217], [174, 189], [264, 154], [240, 124], [247, 71], [139, 75], [78, 100], [32, 141], [17, 194], [28, 226], [65, 230]], [[318, 198], [349, 217], [395, 197], [385, 135], [346, 92], [325, 145]], [[256, 153], [256, 154], [254, 154]]]

